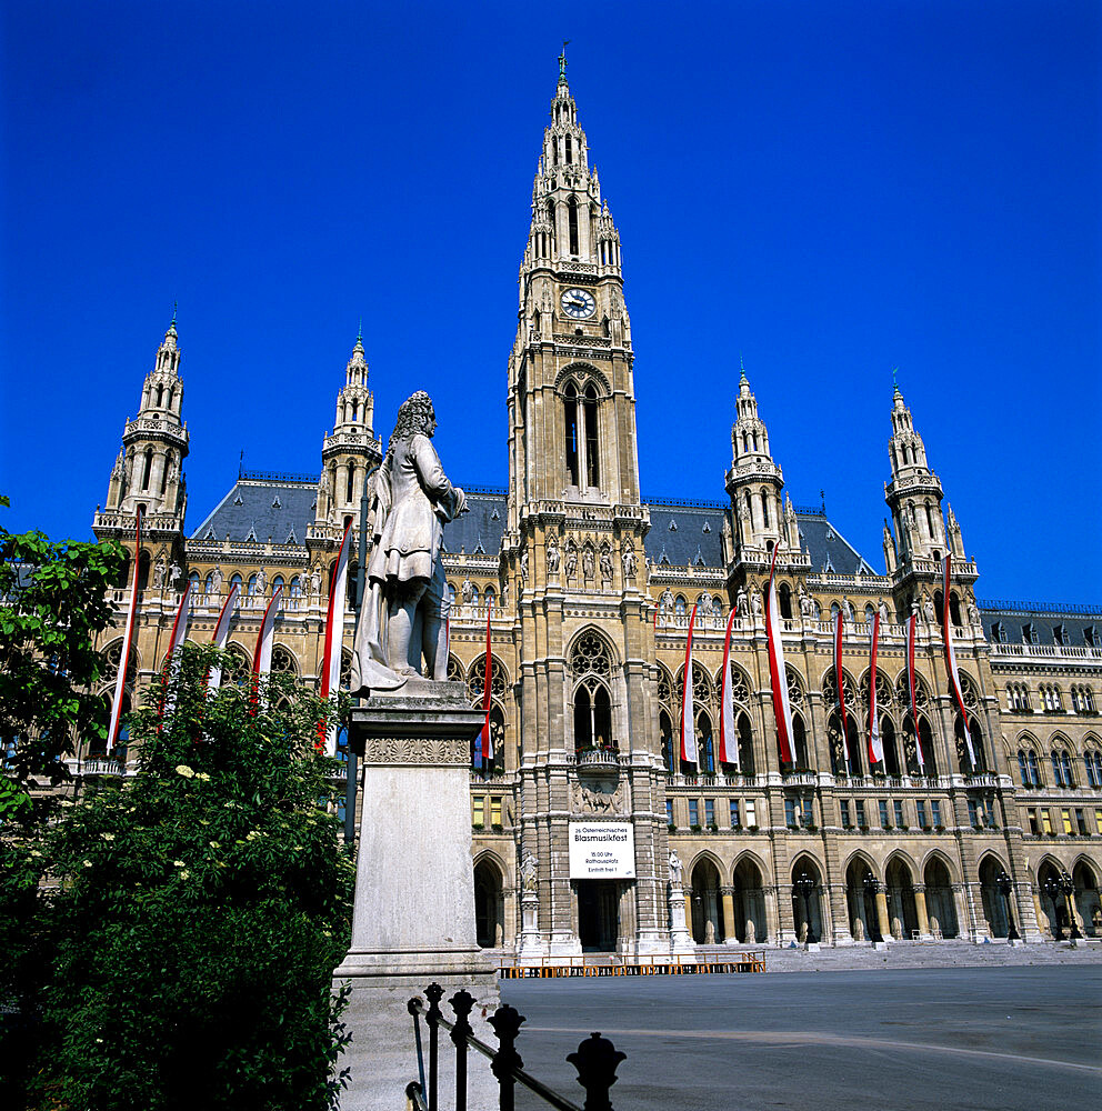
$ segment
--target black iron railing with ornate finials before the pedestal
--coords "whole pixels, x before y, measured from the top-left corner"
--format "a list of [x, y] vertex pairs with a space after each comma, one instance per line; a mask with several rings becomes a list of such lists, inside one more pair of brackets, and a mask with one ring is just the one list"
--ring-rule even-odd
[[[590, 1034], [578, 1045], [575, 1053], [569, 1053], [567, 1060], [578, 1070], [578, 1083], [585, 1089], [585, 1103], [579, 1107], [552, 1091], [547, 1084], [540, 1083], [527, 1073], [515, 1041], [524, 1017], [514, 1007], [502, 1003], [487, 1019], [498, 1038], [498, 1049], [474, 1037], [471, 1029], [470, 1013], [474, 1007], [474, 997], [465, 989], [455, 992], [448, 1002], [455, 1012], [455, 1021], [449, 1022], [440, 1010], [440, 1000], [444, 990], [439, 983], [430, 983], [424, 991], [429, 1005], [420, 997], [409, 1001], [408, 1009], [413, 1018], [413, 1038], [417, 1042], [418, 1079], [405, 1088], [405, 1095], [418, 1111], [437, 1111], [439, 1107], [439, 1042], [440, 1028], [447, 1030], [455, 1045], [455, 1111], [467, 1111], [467, 1057], [470, 1049], [478, 1050], [490, 1059], [490, 1071], [497, 1078], [499, 1085], [499, 1108], [501, 1111], [513, 1111], [515, 1105], [517, 1084], [523, 1084], [534, 1092], [548, 1107], [558, 1111], [612, 1111], [609, 1102], [609, 1089], [617, 1082], [617, 1067], [627, 1059], [600, 1033]], [[421, 1019], [429, 1028], [429, 1061], [425, 1073], [424, 1049], [421, 1039]]]

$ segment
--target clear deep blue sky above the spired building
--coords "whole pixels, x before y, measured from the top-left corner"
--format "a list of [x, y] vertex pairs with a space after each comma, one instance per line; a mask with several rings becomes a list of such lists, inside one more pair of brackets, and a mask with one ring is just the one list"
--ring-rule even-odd
[[560, 41], [623, 241], [644, 493], [719, 500], [740, 352], [875, 567], [891, 368], [986, 598], [1098, 602], [1095, 2], [42, 3], [0, 12], [0, 492], [90, 536], [179, 300], [194, 528], [317, 472], [362, 314], [504, 484]]

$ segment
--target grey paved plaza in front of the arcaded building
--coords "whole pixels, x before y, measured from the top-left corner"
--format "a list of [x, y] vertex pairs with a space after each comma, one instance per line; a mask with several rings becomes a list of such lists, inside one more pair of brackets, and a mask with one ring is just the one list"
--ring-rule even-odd
[[[866, 950], [864, 968], [811, 954], [800, 968], [770, 953], [764, 975], [505, 981], [501, 994], [528, 1018], [525, 1069], [579, 1104], [563, 1058], [600, 1030], [628, 1053], [618, 1111], [1098, 1107], [1099, 954], [1030, 947], [1040, 963], [1003, 964], [969, 948], [960, 965], [876, 968]], [[537, 1105], [519, 1093], [518, 1108]]]

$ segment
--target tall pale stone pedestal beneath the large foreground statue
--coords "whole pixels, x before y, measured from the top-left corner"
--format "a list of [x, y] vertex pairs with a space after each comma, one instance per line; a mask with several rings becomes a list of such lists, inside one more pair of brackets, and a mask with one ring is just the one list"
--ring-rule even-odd
[[[474, 995], [474, 1033], [497, 1043], [485, 1018], [498, 1005], [498, 981], [477, 942], [471, 862], [470, 744], [482, 720], [461, 683], [417, 679], [352, 711], [363, 817], [352, 947], [333, 973], [334, 987], [352, 989], [344, 1012], [352, 1043], [340, 1062], [351, 1070], [344, 1111], [405, 1105], [417, 1077], [407, 1003], [432, 981], [444, 989], [448, 1019], [447, 1001], [460, 988]], [[454, 1055], [443, 1031], [440, 1045], [441, 1107], [451, 1108], [453, 1081], [444, 1078], [454, 1077]], [[498, 1105], [498, 1084], [478, 1053], [468, 1091], [472, 1111]]]

